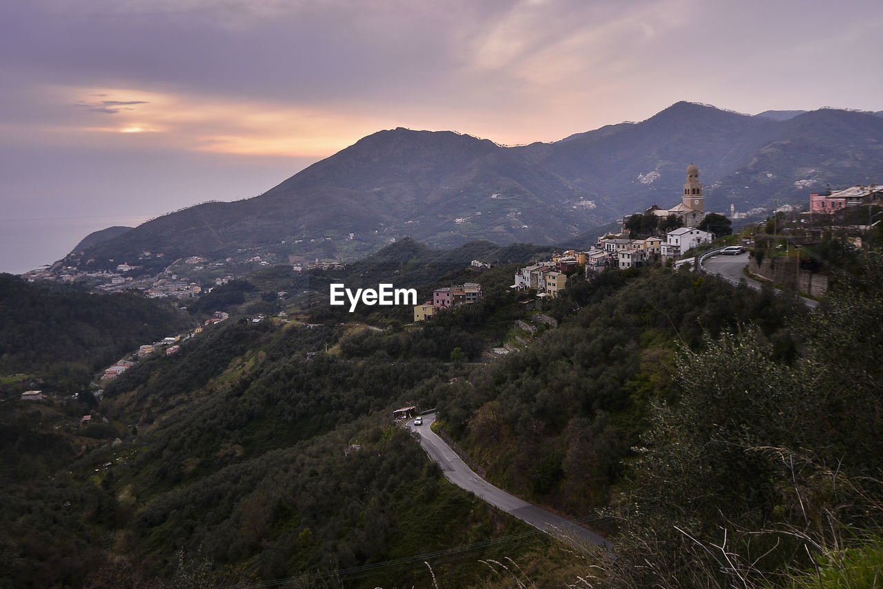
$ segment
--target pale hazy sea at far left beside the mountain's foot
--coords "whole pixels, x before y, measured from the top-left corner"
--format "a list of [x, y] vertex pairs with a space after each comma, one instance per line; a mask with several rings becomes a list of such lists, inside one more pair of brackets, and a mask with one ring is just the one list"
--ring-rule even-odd
[[134, 227], [148, 217], [0, 218], [0, 272], [23, 274], [71, 253], [89, 233]]

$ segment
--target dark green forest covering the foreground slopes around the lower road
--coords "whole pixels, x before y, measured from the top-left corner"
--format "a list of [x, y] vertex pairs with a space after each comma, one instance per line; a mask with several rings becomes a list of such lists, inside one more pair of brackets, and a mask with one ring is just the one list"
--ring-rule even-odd
[[[538, 311], [507, 288], [508, 258], [438, 272], [414, 247], [350, 270], [376, 284], [384, 263], [413, 269], [421, 294], [472, 277], [483, 300], [422, 325], [321, 304], [231, 317], [107, 386], [108, 423], [91, 435], [53, 436], [51, 408], [4, 402], [0, 586], [802, 587], [879, 574], [876, 256], [814, 311], [659, 266], [575, 272]], [[262, 271], [228, 293], [247, 305], [292, 279]], [[516, 351], [487, 356], [504, 343]], [[437, 407], [494, 484], [594, 516], [614, 551], [575, 551], [451, 486], [391, 423], [404, 404]], [[857, 578], [831, 586], [866, 586]]]

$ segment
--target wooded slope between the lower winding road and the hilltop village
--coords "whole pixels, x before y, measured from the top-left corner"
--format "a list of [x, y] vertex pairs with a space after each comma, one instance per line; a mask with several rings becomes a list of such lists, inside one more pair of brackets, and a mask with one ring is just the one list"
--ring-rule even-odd
[[[567, 291], [566, 291], [567, 292]], [[442, 401], [452, 435], [493, 480], [569, 513], [608, 504], [653, 402], [673, 402], [678, 350], [749, 322], [793, 356], [772, 290], [734, 289], [690, 272], [608, 272], [577, 285], [583, 306], [525, 351], [476, 370]]]

